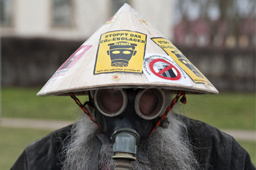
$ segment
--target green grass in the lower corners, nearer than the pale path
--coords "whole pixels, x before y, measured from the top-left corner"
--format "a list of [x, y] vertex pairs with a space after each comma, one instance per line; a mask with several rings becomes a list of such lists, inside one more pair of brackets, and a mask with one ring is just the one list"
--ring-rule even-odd
[[[26, 145], [48, 134], [50, 130], [0, 127], [0, 169], [10, 169]], [[255, 142], [239, 141], [255, 164]]]

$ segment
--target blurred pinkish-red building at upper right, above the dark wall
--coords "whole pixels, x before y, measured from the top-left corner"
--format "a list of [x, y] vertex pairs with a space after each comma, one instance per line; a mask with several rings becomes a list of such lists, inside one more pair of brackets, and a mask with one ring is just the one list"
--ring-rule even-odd
[[[256, 19], [244, 18], [237, 27], [238, 34], [229, 32], [226, 22], [195, 19], [183, 20], [174, 26], [174, 44], [216, 48], [254, 48]], [[214, 35], [212, 35], [214, 34]], [[212, 37], [211, 37], [212, 35]]]

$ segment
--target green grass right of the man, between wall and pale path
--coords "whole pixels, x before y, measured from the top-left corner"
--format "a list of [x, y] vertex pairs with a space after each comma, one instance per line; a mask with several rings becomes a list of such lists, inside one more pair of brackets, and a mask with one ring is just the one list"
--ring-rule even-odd
[[217, 128], [255, 130], [255, 94], [187, 95], [174, 110]]

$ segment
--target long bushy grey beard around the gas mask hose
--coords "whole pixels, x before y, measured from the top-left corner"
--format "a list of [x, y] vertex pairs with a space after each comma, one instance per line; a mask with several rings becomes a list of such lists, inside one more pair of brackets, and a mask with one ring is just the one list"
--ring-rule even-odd
[[[148, 155], [148, 161], [132, 161], [132, 169], [199, 169], [184, 130], [186, 125], [174, 114], [169, 114], [168, 128], [156, 128], [147, 140], [142, 141], [138, 153]], [[71, 130], [71, 140], [63, 147], [63, 169], [90, 169], [97, 127], [83, 116]], [[147, 148], [146, 153], [145, 148]], [[114, 169], [113, 144], [102, 144], [99, 169]]]

